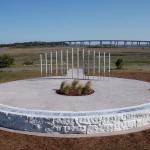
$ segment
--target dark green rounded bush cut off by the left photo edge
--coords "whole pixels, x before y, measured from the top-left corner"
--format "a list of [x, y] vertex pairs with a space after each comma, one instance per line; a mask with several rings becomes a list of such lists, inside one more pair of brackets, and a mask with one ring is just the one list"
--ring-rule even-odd
[[4, 54], [0, 56], [0, 68], [10, 67], [14, 63], [14, 58], [11, 56]]

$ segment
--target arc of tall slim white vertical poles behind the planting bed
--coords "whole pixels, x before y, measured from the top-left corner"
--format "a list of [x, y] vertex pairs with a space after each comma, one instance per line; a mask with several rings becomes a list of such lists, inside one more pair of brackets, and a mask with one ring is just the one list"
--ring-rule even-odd
[[[71, 57], [69, 53], [71, 52]], [[58, 55], [60, 54], [60, 57]], [[76, 60], [75, 60], [76, 56]], [[71, 58], [71, 61], [69, 61]], [[40, 72], [43, 76], [43, 70], [45, 68], [46, 76], [59, 78], [72, 78], [72, 79], [99, 79], [105, 77], [106, 72], [108, 72], [107, 77], [110, 76], [111, 71], [111, 55], [110, 53], [101, 53], [95, 50], [60, 50], [51, 51], [49, 54], [40, 54]], [[49, 62], [49, 63], [48, 63]], [[60, 62], [58, 64], [58, 62]], [[97, 63], [96, 63], [97, 62]], [[70, 68], [71, 64], [71, 68]], [[68, 76], [69, 70], [71, 70], [71, 77]], [[75, 72], [76, 70], [76, 72]], [[82, 75], [81, 75], [82, 71]]]

